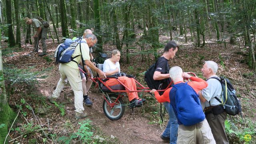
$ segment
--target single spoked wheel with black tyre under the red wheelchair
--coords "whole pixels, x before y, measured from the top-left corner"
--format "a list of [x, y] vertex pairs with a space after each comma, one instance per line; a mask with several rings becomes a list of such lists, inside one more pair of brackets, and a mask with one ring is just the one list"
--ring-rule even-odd
[[[118, 98], [115, 94], [110, 94], [109, 98], [106, 97], [106, 101], [103, 101], [103, 111], [108, 119], [110, 120], [119, 120], [124, 115], [124, 102], [121, 97]], [[110, 105], [108, 104], [110, 103]]]

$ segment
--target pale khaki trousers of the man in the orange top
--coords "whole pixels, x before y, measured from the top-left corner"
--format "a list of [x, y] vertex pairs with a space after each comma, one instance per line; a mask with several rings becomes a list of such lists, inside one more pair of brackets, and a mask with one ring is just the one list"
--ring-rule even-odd
[[216, 144], [206, 119], [192, 126], [179, 125], [177, 144]]

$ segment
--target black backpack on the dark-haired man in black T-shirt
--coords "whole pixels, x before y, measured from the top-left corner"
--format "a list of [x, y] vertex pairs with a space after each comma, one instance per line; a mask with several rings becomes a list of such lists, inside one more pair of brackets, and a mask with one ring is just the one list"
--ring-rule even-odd
[[[160, 57], [163, 58], [163, 57]], [[159, 59], [158, 59], [159, 60]], [[157, 60], [157, 61], [158, 61]], [[157, 62], [156, 62], [157, 63]], [[153, 76], [154, 76], [154, 72], [156, 71], [156, 63], [152, 64], [148, 70], [145, 72], [144, 74], [144, 80], [146, 81], [148, 87], [150, 89], [159, 89], [160, 84], [163, 82], [163, 80], [154, 80]], [[168, 62], [166, 62], [166, 68], [168, 66]]]

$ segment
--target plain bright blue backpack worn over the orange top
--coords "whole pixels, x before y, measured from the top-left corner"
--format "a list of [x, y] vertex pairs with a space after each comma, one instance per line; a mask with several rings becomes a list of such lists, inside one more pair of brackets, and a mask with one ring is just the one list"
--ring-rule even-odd
[[[198, 94], [186, 83], [174, 84], [176, 88], [176, 111], [178, 120], [185, 126], [191, 126], [205, 119]], [[172, 94], [170, 94], [172, 95]]]

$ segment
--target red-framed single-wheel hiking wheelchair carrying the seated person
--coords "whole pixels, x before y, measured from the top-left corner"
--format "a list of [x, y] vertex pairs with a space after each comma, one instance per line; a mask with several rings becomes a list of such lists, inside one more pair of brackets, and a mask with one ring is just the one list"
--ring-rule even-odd
[[[105, 60], [107, 58], [106, 54], [100, 53], [100, 59]], [[99, 59], [98, 59], [99, 60]], [[98, 62], [97, 58], [94, 60], [96, 63], [96, 67], [100, 70], [103, 70], [103, 64], [100, 64]], [[104, 61], [102, 61], [103, 63]], [[80, 69], [83, 71], [82, 69]], [[85, 72], [84, 72], [85, 73]], [[134, 78], [131, 75], [127, 75], [129, 78]], [[108, 86], [106, 85], [106, 81], [108, 79], [115, 78], [120, 84], [114, 85], [114, 86]], [[135, 79], [134, 79], [135, 80]], [[103, 111], [107, 118], [110, 120], [119, 120], [124, 115], [125, 106], [129, 104], [125, 104], [122, 100], [123, 96], [126, 96], [127, 92], [150, 92], [150, 88], [142, 86], [137, 80], [135, 80], [137, 85], [137, 90], [130, 90], [127, 88], [120, 80], [118, 80], [118, 76], [107, 76], [106, 79], [99, 78], [98, 74], [95, 78], [92, 78], [92, 81], [96, 83], [96, 88], [100, 89], [100, 92], [104, 94], [104, 100], [103, 100]], [[171, 86], [171, 83], [167, 88]], [[166, 89], [167, 89], [166, 88]], [[166, 90], [165, 89], [165, 90]], [[157, 90], [159, 92], [165, 91], [165, 90]], [[132, 108], [132, 112], [134, 112], [134, 108]]]

